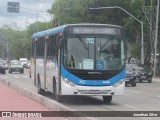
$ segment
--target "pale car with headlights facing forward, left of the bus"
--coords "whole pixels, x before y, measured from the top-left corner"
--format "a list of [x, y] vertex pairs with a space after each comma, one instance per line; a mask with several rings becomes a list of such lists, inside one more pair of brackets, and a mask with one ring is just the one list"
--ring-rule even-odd
[[21, 64], [21, 62], [19, 62], [17, 60], [12, 60], [10, 62], [9, 73], [12, 73], [12, 72], [24, 73], [24, 68], [23, 68], [23, 65]]

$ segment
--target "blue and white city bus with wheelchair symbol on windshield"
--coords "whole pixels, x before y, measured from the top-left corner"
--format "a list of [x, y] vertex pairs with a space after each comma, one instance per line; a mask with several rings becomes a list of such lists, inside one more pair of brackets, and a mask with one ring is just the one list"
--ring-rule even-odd
[[67, 24], [32, 35], [30, 77], [38, 93], [124, 95], [125, 31], [109, 24]]

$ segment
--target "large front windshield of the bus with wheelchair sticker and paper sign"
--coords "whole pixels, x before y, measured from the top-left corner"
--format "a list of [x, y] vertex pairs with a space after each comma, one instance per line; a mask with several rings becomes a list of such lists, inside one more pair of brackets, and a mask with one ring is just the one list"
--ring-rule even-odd
[[117, 70], [125, 64], [124, 40], [114, 36], [68, 37], [64, 66], [81, 70]]

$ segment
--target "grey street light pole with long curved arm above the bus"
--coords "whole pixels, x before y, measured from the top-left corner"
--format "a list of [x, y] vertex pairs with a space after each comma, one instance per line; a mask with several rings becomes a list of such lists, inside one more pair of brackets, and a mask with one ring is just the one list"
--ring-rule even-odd
[[91, 9], [91, 10], [99, 10], [99, 9], [114, 9], [114, 8], [121, 9], [122, 11], [124, 11], [125, 13], [127, 13], [129, 16], [131, 16], [132, 18], [134, 18], [136, 21], [138, 21], [141, 24], [141, 64], [144, 64], [143, 21], [140, 21], [135, 16], [133, 16], [131, 13], [129, 13], [128, 11], [126, 11], [125, 9], [123, 9], [122, 7], [118, 7], [118, 6], [97, 7], [97, 8], [89, 8], [89, 9]]

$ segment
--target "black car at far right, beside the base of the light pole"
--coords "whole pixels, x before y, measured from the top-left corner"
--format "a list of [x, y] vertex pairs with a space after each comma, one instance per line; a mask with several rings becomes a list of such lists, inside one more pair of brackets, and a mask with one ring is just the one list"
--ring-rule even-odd
[[152, 82], [153, 72], [147, 67], [141, 64], [131, 64], [131, 67], [135, 70], [135, 76], [139, 82], [142, 82], [142, 80], [148, 81], [148, 83]]

